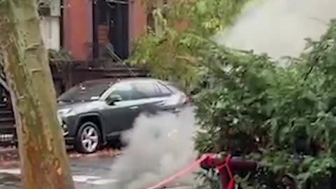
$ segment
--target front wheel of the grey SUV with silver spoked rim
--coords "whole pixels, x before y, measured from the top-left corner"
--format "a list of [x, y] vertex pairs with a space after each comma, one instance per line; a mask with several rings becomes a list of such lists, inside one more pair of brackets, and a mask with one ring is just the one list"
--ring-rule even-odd
[[102, 143], [102, 134], [96, 124], [86, 122], [80, 125], [75, 137], [75, 149], [79, 153], [95, 153]]

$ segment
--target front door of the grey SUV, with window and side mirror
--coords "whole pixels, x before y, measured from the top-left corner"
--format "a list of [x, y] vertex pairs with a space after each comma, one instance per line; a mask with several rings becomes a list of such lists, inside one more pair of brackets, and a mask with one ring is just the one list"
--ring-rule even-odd
[[102, 116], [106, 121], [107, 137], [118, 137], [121, 132], [132, 128], [132, 124], [139, 116], [137, 101], [132, 98], [133, 85], [130, 82], [113, 85], [109, 95], [118, 94], [120, 102], [106, 104]]

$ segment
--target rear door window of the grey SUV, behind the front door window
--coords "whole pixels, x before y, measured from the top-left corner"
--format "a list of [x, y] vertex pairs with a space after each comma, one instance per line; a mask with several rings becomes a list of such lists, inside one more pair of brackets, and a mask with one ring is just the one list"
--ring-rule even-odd
[[160, 97], [160, 91], [153, 81], [137, 81], [134, 82], [133, 99], [146, 99]]

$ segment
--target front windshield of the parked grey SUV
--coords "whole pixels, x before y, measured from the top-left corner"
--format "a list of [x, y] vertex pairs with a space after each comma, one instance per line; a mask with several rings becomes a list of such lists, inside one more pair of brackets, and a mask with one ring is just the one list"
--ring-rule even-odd
[[109, 89], [111, 83], [82, 83], [71, 87], [64, 92], [58, 100], [61, 102], [83, 102], [99, 99]]

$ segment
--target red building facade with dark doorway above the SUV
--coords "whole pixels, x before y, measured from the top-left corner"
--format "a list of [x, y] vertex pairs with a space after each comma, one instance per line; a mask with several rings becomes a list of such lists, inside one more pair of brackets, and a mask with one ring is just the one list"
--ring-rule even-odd
[[146, 8], [141, 1], [63, 0], [64, 48], [80, 62], [92, 62], [106, 51], [127, 58], [134, 40], [146, 32]]

